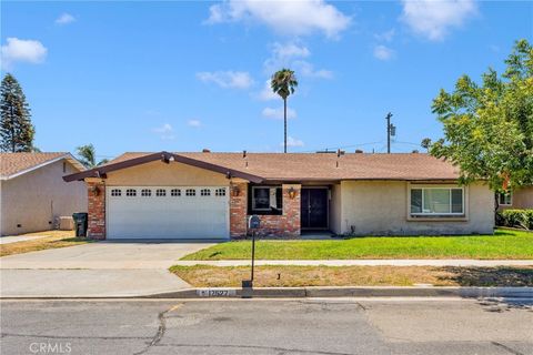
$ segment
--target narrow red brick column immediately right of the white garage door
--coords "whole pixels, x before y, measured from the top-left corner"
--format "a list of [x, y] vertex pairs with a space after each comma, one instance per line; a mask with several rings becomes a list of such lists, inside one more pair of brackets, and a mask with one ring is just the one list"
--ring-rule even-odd
[[230, 183], [230, 235], [247, 236], [248, 231], [248, 182], [234, 180]]

